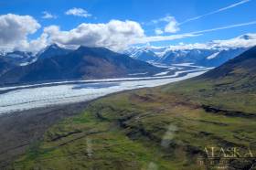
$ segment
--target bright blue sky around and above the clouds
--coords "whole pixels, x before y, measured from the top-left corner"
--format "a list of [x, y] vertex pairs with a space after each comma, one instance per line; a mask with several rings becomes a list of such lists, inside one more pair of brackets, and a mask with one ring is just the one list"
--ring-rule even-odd
[[[60, 27], [61, 31], [69, 31], [81, 23], [105, 24], [112, 19], [138, 23], [146, 37], [182, 35], [256, 21], [256, 0], [8, 0], [0, 2], [0, 6], [0, 15], [32, 16], [37, 20], [41, 27], [35, 33], [28, 34], [28, 39], [40, 37], [44, 28], [52, 25]], [[67, 15], [67, 11], [72, 8], [80, 8], [89, 16]], [[43, 18], [43, 12], [53, 17]], [[195, 19], [181, 24], [191, 18]], [[176, 30], [171, 27], [169, 31], [165, 31], [170, 22], [174, 22]], [[158, 35], [155, 34], [156, 29]], [[243, 27], [203, 32], [197, 37], [150, 43], [155, 46], [175, 45], [180, 42], [201, 43], [255, 31], [256, 23], [251, 23]]]

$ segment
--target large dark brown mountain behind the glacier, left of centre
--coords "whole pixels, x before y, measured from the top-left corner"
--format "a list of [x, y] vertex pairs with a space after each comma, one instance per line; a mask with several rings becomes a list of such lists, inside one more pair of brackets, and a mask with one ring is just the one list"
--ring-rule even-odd
[[[48, 53], [49, 49], [56, 50], [56, 47], [49, 47], [45, 52]], [[51, 56], [52, 53], [49, 53], [48, 57], [42, 53], [43, 57], [39, 56], [36, 62], [11, 69], [0, 80], [2, 83], [21, 83], [103, 79], [124, 77], [138, 72], [148, 72], [150, 75], [161, 70], [107, 48], [80, 47], [68, 54], [60, 55], [62, 52], [58, 52], [56, 56]]]

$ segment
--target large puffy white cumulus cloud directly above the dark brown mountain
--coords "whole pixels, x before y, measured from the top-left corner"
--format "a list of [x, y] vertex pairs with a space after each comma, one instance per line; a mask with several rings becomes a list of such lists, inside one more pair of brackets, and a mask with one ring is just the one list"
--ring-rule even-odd
[[50, 42], [69, 46], [106, 47], [118, 50], [133, 43], [133, 39], [142, 38], [144, 29], [134, 21], [111, 20], [106, 24], [80, 24], [69, 31], [58, 26], [44, 29]]

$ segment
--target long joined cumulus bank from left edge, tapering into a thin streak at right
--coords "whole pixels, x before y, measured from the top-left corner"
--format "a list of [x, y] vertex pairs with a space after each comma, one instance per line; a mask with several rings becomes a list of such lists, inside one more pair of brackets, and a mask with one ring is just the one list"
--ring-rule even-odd
[[195, 37], [196, 34], [147, 37], [144, 29], [135, 21], [111, 20], [108, 23], [82, 23], [70, 30], [61, 30], [59, 26], [44, 27], [41, 36], [28, 39], [40, 25], [32, 16], [0, 16], [0, 49], [27, 50], [37, 52], [51, 43], [64, 48], [105, 47], [118, 51], [133, 44]]

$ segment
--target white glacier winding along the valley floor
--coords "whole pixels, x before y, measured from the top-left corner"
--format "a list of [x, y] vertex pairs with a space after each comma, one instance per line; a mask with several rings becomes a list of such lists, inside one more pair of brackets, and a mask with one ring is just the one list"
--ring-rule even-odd
[[[101, 96], [122, 90], [155, 87], [178, 80], [198, 76], [206, 69], [193, 69], [194, 72], [177, 71], [175, 75], [152, 78], [108, 79], [94, 81], [64, 81], [45, 83], [38, 86], [17, 86], [0, 88], [0, 114], [28, 109], [91, 101]], [[61, 84], [62, 83], [62, 84]], [[4, 90], [10, 90], [5, 92]]]

